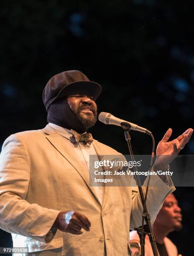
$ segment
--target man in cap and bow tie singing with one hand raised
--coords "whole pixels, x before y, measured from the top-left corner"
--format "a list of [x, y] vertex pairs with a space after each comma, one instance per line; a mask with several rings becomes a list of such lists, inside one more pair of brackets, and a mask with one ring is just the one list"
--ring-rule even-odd
[[[96, 123], [100, 93], [101, 86], [82, 72], [55, 75], [43, 92], [48, 125], [11, 135], [3, 144], [0, 227], [12, 233], [14, 247], [27, 247], [30, 255], [131, 254], [129, 229], [141, 225], [138, 190], [89, 186], [89, 155], [121, 155], [86, 133]], [[169, 129], [157, 147], [155, 169], [166, 170], [192, 132], [168, 141]], [[151, 177], [152, 220], [174, 190], [170, 177], [163, 180]]]

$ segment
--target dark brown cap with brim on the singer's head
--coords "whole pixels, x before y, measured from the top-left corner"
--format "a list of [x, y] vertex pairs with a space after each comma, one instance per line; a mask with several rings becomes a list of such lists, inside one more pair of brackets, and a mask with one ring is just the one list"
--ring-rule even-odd
[[43, 91], [43, 102], [46, 110], [54, 100], [72, 94], [86, 94], [96, 100], [101, 94], [101, 86], [92, 82], [78, 70], [69, 70], [53, 76]]

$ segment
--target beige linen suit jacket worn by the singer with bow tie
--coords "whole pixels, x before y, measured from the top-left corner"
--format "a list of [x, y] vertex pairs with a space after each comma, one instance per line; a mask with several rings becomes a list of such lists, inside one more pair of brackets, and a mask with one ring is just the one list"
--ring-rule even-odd
[[[13, 246], [30, 253], [67, 256], [130, 255], [129, 228], [141, 225], [141, 200], [132, 187], [105, 187], [102, 205], [88, 170], [68, 149], [67, 138], [47, 125], [8, 137], [0, 154], [0, 228], [12, 233]], [[97, 154], [119, 153], [93, 141]], [[172, 189], [153, 177], [147, 207], [154, 219]], [[145, 187], [144, 187], [145, 189]], [[91, 230], [76, 236], [50, 231], [60, 211], [76, 210]], [[33, 255], [33, 254], [30, 254]]]

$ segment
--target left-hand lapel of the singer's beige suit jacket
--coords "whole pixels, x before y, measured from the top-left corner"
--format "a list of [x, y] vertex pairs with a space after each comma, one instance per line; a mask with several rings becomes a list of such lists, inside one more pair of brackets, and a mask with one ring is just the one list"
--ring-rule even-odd
[[[88, 186], [88, 188], [91, 190], [93, 195], [96, 197], [96, 200], [101, 205], [100, 201], [98, 200], [98, 197], [96, 195], [96, 190], [94, 187], [89, 186], [89, 173], [88, 170], [86, 170], [85, 166], [81, 165], [80, 162], [78, 162], [78, 159], [73, 154], [70, 154], [67, 147], [64, 146], [64, 138], [59, 133], [55, 131], [50, 125], [46, 125], [46, 127], [43, 129], [44, 133], [47, 134], [46, 138], [50, 143], [54, 146], [54, 148], [63, 156], [66, 158], [66, 160], [76, 169], [76, 171], [81, 175], [82, 179]], [[67, 138], [66, 138], [67, 139]]]

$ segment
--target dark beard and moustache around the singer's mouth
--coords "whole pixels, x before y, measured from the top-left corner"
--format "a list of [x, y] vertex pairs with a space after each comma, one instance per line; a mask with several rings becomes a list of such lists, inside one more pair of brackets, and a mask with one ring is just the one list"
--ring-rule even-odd
[[[81, 113], [81, 110], [83, 108], [90, 108], [91, 111], [93, 112], [93, 114], [91, 113], [85, 113], [84, 115]], [[81, 105], [78, 106], [78, 109], [75, 113], [76, 115], [76, 119], [78, 120], [78, 122], [80, 122], [86, 129], [92, 127], [93, 125], [95, 125], [96, 121], [97, 121], [97, 116], [98, 116], [98, 112], [97, 112], [97, 108], [94, 108], [93, 106], [87, 104], [87, 103], [82, 103]]]

